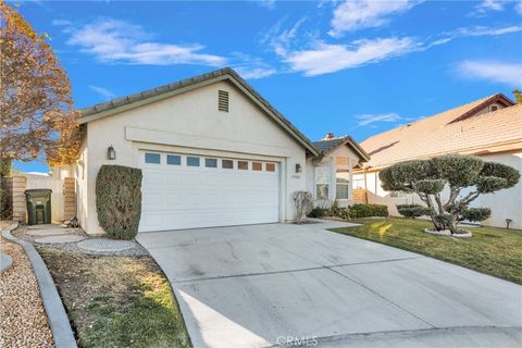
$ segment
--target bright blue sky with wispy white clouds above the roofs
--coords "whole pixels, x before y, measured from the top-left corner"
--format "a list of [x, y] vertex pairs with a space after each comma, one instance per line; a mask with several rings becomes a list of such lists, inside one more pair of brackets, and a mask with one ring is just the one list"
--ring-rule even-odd
[[[14, 4], [14, 2], [11, 2]], [[77, 108], [232, 66], [310, 139], [522, 88], [522, 1], [23, 1]], [[46, 171], [45, 163], [17, 163]]]

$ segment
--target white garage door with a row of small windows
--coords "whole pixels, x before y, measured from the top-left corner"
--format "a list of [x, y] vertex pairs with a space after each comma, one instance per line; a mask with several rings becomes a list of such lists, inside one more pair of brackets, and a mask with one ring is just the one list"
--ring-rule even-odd
[[279, 220], [276, 162], [160, 152], [140, 162], [141, 232]]

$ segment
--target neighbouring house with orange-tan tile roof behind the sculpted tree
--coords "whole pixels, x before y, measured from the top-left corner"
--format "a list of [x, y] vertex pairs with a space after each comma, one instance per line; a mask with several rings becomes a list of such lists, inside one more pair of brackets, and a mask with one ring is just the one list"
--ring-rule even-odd
[[[364, 202], [387, 204], [390, 214], [398, 215], [396, 204], [421, 201], [414, 195], [382, 189], [378, 172], [394, 163], [464, 153], [522, 171], [522, 104], [514, 104], [501, 94], [489, 96], [377, 134], [361, 146], [371, 159], [355, 171], [355, 197]], [[484, 225], [506, 227], [506, 219], [511, 219], [512, 228], [522, 228], [522, 183], [482, 195], [472, 207], [492, 209], [492, 216], [482, 222]]]

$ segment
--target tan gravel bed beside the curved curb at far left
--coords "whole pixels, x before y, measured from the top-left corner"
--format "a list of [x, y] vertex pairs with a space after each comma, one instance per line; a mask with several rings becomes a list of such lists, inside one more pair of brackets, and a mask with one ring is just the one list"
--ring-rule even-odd
[[[2, 222], [2, 229], [10, 223]], [[54, 347], [30, 262], [23, 248], [0, 237], [13, 265], [0, 275], [0, 347]]]

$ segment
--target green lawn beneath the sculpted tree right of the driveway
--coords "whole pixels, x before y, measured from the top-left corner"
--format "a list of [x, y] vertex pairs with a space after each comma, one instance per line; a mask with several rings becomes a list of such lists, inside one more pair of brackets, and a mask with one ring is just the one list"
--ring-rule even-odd
[[428, 221], [400, 217], [360, 219], [357, 227], [333, 232], [368, 239], [451, 262], [522, 284], [522, 231], [470, 227], [471, 238], [434, 236], [423, 232]]

